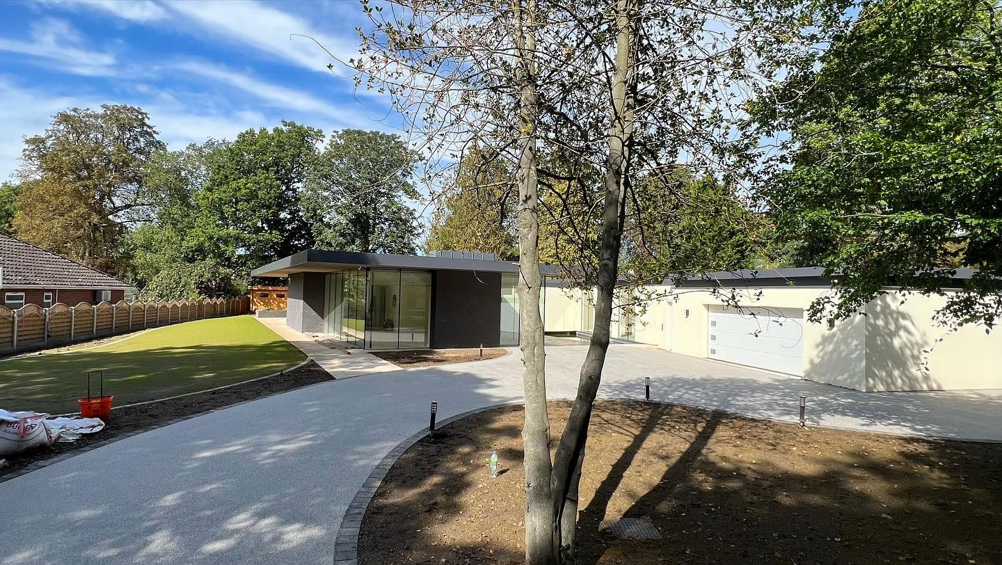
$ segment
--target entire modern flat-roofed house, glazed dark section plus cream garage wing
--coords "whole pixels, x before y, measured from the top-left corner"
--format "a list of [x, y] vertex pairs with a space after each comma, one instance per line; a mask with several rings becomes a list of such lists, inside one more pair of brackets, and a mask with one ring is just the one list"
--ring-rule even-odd
[[[253, 274], [289, 276], [291, 328], [349, 346], [517, 345], [518, 264], [443, 254], [311, 249]], [[545, 331], [590, 332], [593, 297], [567, 288], [553, 267], [544, 265], [543, 274]], [[970, 274], [958, 269], [957, 287]], [[647, 288], [660, 298], [645, 309], [615, 310], [612, 337], [861, 391], [1002, 389], [1002, 335], [937, 326], [933, 316], [947, 297], [889, 289], [851, 319], [816, 324], [805, 313], [834, 292], [820, 267], [717, 272], [677, 289], [669, 282]], [[735, 309], [717, 293], [744, 299]]]

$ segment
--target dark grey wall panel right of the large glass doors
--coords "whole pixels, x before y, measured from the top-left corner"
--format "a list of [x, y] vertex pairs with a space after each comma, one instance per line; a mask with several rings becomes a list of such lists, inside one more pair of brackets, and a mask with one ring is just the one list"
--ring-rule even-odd
[[432, 347], [501, 344], [501, 273], [435, 271]]

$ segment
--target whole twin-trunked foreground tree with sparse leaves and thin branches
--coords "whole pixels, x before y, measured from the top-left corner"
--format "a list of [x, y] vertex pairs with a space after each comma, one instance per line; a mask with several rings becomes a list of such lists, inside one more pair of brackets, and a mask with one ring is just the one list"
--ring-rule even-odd
[[[367, 6], [376, 29], [365, 36], [367, 50], [358, 68], [377, 77], [427, 136], [446, 146], [477, 142], [495, 148], [516, 169], [526, 561], [570, 561], [577, 487], [609, 343], [630, 193], [638, 182], [670, 186], [668, 176], [679, 162], [696, 178], [716, 173], [722, 186], [731, 186], [724, 164], [747, 144], [734, 139], [732, 127], [732, 118], [743, 111], [742, 95], [773, 80], [781, 66], [809, 60], [803, 51], [822, 36], [801, 26], [828, 25], [840, 11], [766, 0], [404, 4], [404, 21], [397, 11], [384, 18]], [[406, 113], [415, 108], [416, 117]], [[587, 166], [559, 164], [566, 161], [558, 155]], [[586, 256], [567, 263], [593, 265], [568, 268], [565, 276], [598, 288], [578, 394], [552, 457], [537, 306], [541, 181], [560, 194], [559, 201], [570, 202], [572, 217], [582, 222], [574, 231], [585, 234], [577, 248]], [[589, 211], [575, 211], [582, 206]], [[666, 271], [637, 279], [670, 272], [667, 261], [655, 266]]]

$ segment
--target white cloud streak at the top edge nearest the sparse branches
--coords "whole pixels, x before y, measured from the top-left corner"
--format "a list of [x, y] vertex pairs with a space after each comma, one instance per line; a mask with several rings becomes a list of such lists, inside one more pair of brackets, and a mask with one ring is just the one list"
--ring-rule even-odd
[[[207, 39], [223, 38], [310, 70], [328, 72], [328, 63], [337, 62], [312, 40], [293, 37], [295, 34], [315, 38], [343, 61], [357, 56], [358, 49], [351, 42], [320, 32], [308, 20], [250, 0], [174, 2], [166, 6], [211, 34]], [[340, 23], [354, 34], [351, 22]]]

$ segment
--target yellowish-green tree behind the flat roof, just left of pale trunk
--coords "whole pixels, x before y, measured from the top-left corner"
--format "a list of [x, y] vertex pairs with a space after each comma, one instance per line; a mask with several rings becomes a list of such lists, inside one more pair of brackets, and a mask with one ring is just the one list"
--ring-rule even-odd
[[517, 258], [518, 192], [504, 162], [474, 147], [464, 155], [456, 174], [455, 183], [440, 196], [425, 248]]

